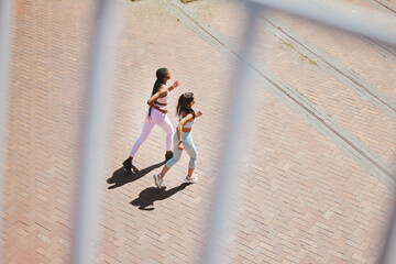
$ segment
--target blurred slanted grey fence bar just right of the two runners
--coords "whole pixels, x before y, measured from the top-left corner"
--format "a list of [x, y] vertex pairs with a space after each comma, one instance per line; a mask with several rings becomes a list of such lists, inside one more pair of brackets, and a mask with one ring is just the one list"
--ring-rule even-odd
[[[224, 223], [228, 221], [230, 211], [228, 209], [231, 199], [231, 193], [235, 185], [238, 172], [232, 169], [232, 164], [238, 164], [241, 153], [240, 136], [243, 131], [244, 120], [248, 118], [248, 102], [251, 91], [246, 90], [248, 74], [250, 72], [250, 62], [252, 57], [252, 47], [254, 43], [255, 25], [258, 19], [261, 8], [258, 4], [246, 3], [249, 9], [249, 23], [245, 31], [245, 43], [241, 52], [241, 61], [238, 67], [237, 80], [232, 87], [232, 110], [230, 112], [230, 125], [226, 135], [226, 147], [223, 150], [223, 162], [220, 169], [220, 177], [215, 194], [212, 216], [209, 221], [210, 230], [208, 241], [205, 248], [204, 263], [220, 263], [220, 241], [223, 234]], [[231, 165], [230, 165], [231, 164]]]

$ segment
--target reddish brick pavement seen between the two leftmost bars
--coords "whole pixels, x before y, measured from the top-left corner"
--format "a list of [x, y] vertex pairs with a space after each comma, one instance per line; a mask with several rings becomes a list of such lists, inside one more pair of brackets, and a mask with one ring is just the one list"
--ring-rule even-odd
[[12, 65], [2, 263], [67, 263], [92, 4], [21, 4]]

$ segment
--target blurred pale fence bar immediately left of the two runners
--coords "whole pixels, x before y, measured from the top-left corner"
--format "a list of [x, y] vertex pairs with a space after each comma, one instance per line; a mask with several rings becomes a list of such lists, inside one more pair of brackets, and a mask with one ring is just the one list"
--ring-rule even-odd
[[94, 263], [99, 230], [99, 180], [103, 179], [106, 131], [112, 110], [111, 80], [114, 74], [114, 44], [118, 40], [114, 15], [117, 1], [98, 1], [95, 20], [91, 72], [86, 92], [86, 111], [81, 142], [80, 175], [75, 204], [73, 263]]

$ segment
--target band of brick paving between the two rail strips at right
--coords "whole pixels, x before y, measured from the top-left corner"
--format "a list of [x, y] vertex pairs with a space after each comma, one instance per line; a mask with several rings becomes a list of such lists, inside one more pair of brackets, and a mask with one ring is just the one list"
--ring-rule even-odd
[[[268, 36], [266, 34], [266, 36]], [[258, 43], [264, 42], [265, 36]], [[270, 37], [266, 37], [270, 38]], [[324, 110], [332, 119], [354, 133], [360, 140], [392, 161], [395, 152], [395, 120], [375, 108], [369, 100], [323, 70], [305, 53], [290, 47], [288, 42], [268, 40], [265, 53], [260, 57], [277, 76], [297, 88], [310, 101]], [[262, 48], [265, 48], [262, 46]], [[299, 65], [299, 67], [296, 67]], [[388, 86], [391, 86], [388, 84]]]

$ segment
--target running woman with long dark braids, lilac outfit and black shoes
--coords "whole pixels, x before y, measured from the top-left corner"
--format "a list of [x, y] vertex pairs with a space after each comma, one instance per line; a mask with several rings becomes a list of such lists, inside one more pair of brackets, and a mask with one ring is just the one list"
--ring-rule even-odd
[[153, 87], [152, 97], [148, 99], [147, 105], [150, 106], [147, 116], [145, 117], [142, 134], [134, 143], [130, 156], [122, 163], [123, 167], [128, 170], [132, 170], [132, 161], [136, 154], [139, 147], [147, 139], [150, 132], [152, 131], [154, 124], [160, 125], [166, 132], [166, 154], [165, 160], [168, 161], [173, 157], [172, 147], [172, 136], [174, 129], [167, 117], [167, 100], [169, 97], [169, 91], [175, 89], [179, 84], [175, 81], [173, 86], [166, 88], [166, 81], [170, 79], [170, 74], [167, 68], [160, 68], [156, 72], [156, 80]]

